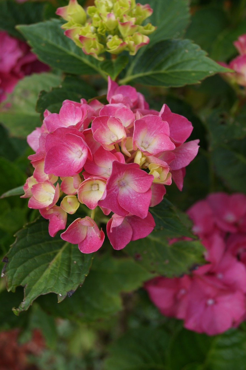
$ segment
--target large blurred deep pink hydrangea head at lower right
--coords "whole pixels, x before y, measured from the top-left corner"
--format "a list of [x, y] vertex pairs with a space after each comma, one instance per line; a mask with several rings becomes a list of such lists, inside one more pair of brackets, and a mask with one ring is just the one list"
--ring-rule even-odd
[[215, 335], [246, 318], [246, 196], [213, 193], [187, 213], [208, 263], [191, 275], [156, 277], [145, 287], [161, 313]]

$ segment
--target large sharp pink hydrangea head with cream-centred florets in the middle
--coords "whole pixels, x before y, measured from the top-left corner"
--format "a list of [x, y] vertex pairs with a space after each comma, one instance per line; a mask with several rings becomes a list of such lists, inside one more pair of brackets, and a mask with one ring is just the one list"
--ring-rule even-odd
[[92, 210], [61, 234], [83, 253], [104, 240], [93, 219], [96, 207], [106, 216], [113, 212], [106, 229], [114, 249], [147, 236], [155, 226], [148, 208], [161, 202], [171, 178], [182, 189], [185, 166], [198, 152], [198, 140], [185, 142], [191, 122], [167, 105], [150, 110], [134, 87], [110, 78], [107, 101], [65, 100], [59, 114], [46, 110], [42, 126], [27, 138], [34, 173], [23, 197], [49, 219], [51, 236], [80, 204]]

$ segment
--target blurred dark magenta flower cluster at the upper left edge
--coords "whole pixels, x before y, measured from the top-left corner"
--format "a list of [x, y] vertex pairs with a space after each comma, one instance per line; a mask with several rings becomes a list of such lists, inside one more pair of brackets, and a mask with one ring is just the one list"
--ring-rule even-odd
[[37, 60], [23, 41], [0, 31], [0, 102], [13, 91], [25, 75], [48, 71], [48, 65]]

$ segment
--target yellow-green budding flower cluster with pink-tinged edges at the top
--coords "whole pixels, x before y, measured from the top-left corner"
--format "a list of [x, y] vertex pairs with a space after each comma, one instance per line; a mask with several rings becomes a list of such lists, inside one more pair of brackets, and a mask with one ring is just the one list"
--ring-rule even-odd
[[140, 47], [148, 44], [147, 35], [156, 27], [151, 23], [141, 23], [151, 16], [148, 4], [136, 4], [135, 0], [95, 0], [95, 6], [85, 10], [76, 0], [70, 0], [68, 6], [58, 8], [56, 14], [68, 21], [64, 28], [85, 54], [103, 60], [100, 54], [107, 51], [119, 54], [123, 50], [135, 55]]

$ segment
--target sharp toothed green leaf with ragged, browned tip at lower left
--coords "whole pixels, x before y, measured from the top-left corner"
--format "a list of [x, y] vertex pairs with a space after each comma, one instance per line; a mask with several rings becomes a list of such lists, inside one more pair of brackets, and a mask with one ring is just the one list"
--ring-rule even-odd
[[18, 314], [40, 295], [57, 293], [59, 302], [70, 295], [87, 276], [92, 255], [81, 253], [77, 245], [64, 242], [59, 235], [51, 238], [48, 222], [38, 220], [16, 234], [7, 259], [8, 291], [25, 287], [23, 302], [14, 309]]

